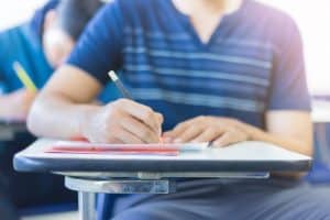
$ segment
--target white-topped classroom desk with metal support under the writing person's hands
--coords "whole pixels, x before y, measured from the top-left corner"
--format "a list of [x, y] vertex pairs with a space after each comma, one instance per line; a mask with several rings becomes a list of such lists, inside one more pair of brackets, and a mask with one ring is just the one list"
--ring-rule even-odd
[[18, 172], [65, 176], [79, 194], [81, 220], [94, 220], [95, 194], [170, 194], [176, 178], [267, 178], [271, 172], [305, 172], [311, 158], [262, 142], [180, 153], [178, 156], [44, 153], [56, 140], [41, 139], [14, 156]]

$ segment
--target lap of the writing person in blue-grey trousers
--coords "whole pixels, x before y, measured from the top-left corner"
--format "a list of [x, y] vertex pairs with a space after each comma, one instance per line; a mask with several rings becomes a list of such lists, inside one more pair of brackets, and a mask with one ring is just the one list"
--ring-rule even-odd
[[114, 220], [127, 219], [330, 219], [330, 187], [268, 179], [179, 184], [164, 196], [119, 199]]

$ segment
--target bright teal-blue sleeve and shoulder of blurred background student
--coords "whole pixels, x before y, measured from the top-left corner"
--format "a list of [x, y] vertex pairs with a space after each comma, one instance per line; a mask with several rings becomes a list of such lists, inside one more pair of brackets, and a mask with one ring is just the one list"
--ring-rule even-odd
[[3, 94], [23, 87], [13, 69], [14, 62], [24, 67], [37, 88], [42, 88], [53, 74], [53, 68], [44, 56], [40, 36], [29, 24], [0, 33], [0, 84]]

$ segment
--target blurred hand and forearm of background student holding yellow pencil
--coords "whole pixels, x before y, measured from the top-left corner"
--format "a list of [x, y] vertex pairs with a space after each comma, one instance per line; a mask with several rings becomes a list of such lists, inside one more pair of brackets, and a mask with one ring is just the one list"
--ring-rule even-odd
[[6, 119], [25, 120], [36, 97], [35, 92], [21, 89], [1, 98], [0, 117]]

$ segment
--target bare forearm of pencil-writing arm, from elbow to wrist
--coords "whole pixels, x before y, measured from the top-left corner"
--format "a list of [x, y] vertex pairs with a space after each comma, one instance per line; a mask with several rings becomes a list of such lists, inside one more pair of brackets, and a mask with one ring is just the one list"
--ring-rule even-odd
[[46, 95], [37, 98], [28, 118], [29, 130], [37, 136], [72, 139], [80, 138], [81, 123], [97, 108], [92, 105], [76, 105], [63, 97]]

